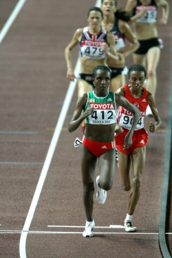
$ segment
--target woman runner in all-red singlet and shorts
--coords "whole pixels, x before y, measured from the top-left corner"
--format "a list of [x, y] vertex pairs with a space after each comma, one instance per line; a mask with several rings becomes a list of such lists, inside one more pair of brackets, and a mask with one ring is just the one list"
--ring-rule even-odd
[[[155, 124], [150, 122], [149, 131], [154, 133], [161, 125], [161, 119], [155, 104], [153, 95], [144, 87], [144, 80], [147, 77], [146, 69], [140, 64], [133, 64], [129, 67], [129, 85], [125, 85], [116, 92], [124, 96], [130, 103], [140, 110], [138, 125], [133, 133], [133, 143], [129, 149], [124, 148], [124, 139], [131, 129], [133, 114], [124, 107], [118, 108], [118, 125], [123, 129], [122, 133], [116, 133], [115, 141], [118, 149], [118, 169], [120, 180], [125, 191], [130, 191], [129, 206], [127, 216], [125, 217], [125, 230], [127, 232], [135, 231], [132, 226], [133, 213], [136, 209], [140, 197], [140, 188], [142, 182], [142, 173], [146, 160], [146, 145], [148, 133], [144, 129], [144, 116], [146, 115], [147, 105], [151, 107]], [[132, 174], [131, 174], [132, 168]]]

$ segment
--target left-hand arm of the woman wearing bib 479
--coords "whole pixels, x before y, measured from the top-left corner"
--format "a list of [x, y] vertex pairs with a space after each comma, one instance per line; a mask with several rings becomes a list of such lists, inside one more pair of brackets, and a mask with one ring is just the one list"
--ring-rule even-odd
[[76, 76], [74, 75], [74, 69], [72, 66], [71, 51], [74, 47], [76, 47], [76, 45], [78, 45], [82, 31], [83, 29], [76, 30], [72, 38], [72, 41], [70, 41], [69, 45], [65, 47], [65, 60], [67, 63], [67, 79], [72, 81], [74, 81], [74, 78], [76, 78]]

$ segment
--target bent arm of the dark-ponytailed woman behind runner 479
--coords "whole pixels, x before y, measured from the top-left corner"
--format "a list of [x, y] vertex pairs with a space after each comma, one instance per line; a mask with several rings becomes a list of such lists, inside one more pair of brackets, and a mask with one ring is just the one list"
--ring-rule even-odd
[[119, 21], [119, 29], [120, 29], [120, 32], [122, 32], [122, 34], [125, 35], [125, 38], [129, 41], [129, 43], [131, 43], [127, 51], [122, 53], [125, 57], [127, 57], [133, 52], [135, 52], [136, 50], [138, 50], [138, 47], [140, 46], [140, 44], [138, 43], [136, 36], [133, 34], [133, 32], [131, 32], [129, 25], [125, 23], [125, 21], [122, 21], [122, 20]]

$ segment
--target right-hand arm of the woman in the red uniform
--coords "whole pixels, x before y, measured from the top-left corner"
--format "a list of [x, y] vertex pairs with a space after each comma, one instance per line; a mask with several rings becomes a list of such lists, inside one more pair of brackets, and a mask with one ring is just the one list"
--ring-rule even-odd
[[148, 100], [148, 104], [151, 108], [153, 117], [155, 119], [155, 124], [153, 124], [153, 122], [150, 122], [149, 125], [149, 131], [151, 133], [154, 133], [155, 131], [158, 130], [158, 128], [160, 127], [162, 121], [160, 119], [159, 113], [158, 113], [158, 109], [156, 107], [156, 103], [155, 103], [155, 99], [153, 98], [153, 95], [150, 92], [147, 92], [147, 100]]

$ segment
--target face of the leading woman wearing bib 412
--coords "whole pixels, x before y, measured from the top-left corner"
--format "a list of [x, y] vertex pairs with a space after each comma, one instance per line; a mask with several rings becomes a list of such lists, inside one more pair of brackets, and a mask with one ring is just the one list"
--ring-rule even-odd
[[95, 93], [100, 95], [107, 94], [107, 89], [110, 85], [110, 72], [107, 70], [98, 69], [94, 77]]

